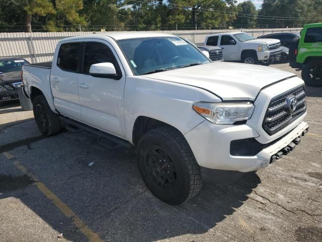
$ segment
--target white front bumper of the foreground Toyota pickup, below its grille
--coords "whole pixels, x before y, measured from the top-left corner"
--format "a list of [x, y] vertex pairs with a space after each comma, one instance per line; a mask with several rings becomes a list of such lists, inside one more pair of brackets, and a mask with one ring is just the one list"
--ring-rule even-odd
[[[210, 169], [249, 172], [267, 167], [272, 162], [274, 155], [288, 147], [307, 129], [308, 125], [305, 122], [299, 123], [283, 138], [254, 156], [233, 156], [230, 154], [231, 141], [259, 137], [257, 131], [249, 125], [225, 126], [204, 121], [188, 132], [185, 137], [200, 166]], [[287, 149], [287, 151], [289, 150]], [[275, 159], [277, 158], [275, 157]]]

